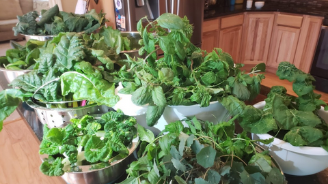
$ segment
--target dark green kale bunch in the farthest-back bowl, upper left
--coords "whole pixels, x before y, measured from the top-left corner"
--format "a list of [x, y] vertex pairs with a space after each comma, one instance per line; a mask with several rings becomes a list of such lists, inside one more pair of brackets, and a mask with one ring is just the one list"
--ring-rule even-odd
[[56, 4], [49, 10], [41, 11], [40, 20], [38, 12], [28, 12], [23, 16], [17, 16], [18, 23], [13, 27], [14, 35], [57, 35], [60, 32], [83, 32], [92, 33], [102, 25], [107, 19], [105, 14], [92, 9], [86, 14], [73, 14], [59, 11]]

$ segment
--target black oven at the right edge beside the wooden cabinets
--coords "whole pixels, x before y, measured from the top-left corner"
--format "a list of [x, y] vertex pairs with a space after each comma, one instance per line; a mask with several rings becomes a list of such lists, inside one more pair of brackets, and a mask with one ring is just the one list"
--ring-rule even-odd
[[310, 74], [316, 79], [316, 89], [328, 93], [328, 25], [321, 27]]

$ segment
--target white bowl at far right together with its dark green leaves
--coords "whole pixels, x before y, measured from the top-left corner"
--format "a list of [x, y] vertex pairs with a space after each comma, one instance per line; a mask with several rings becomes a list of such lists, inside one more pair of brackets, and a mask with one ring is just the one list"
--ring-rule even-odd
[[[292, 175], [309, 175], [327, 168], [328, 106], [314, 93], [313, 76], [288, 62], [279, 63], [276, 75], [292, 82], [297, 97], [287, 94], [282, 86], [271, 87], [264, 102], [246, 106], [236, 98], [223, 106], [238, 116], [243, 129], [259, 138], [274, 138], [263, 147]], [[238, 104], [236, 112], [234, 107]]]

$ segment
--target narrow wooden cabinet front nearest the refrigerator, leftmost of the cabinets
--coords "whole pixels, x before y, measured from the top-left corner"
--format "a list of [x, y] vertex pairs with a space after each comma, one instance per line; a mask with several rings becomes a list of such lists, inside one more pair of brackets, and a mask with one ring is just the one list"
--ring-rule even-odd
[[202, 50], [212, 52], [219, 41], [219, 18], [205, 20], [203, 22]]

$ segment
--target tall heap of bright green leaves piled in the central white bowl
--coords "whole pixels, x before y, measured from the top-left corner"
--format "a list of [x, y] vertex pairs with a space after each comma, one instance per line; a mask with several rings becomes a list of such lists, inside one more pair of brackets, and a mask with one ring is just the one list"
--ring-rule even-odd
[[[148, 104], [147, 124], [152, 126], [161, 117], [165, 106], [200, 104], [209, 106], [220, 97], [234, 95], [238, 99], [253, 99], [260, 92], [264, 63], [257, 65], [250, 74], [241, 72], [241, 64], [234, 65], [232, 57], [215, 48], [207, 53], [190, 42], [192, 26], [187, 17], [162, 14], [137, 29], [142, 40], [137, 61], [128, 57], [131, 68], [122, 67], [114, 73], [124, 89], [119, 93], [131, 94], [138, 106]], [[163, 50], [164, 57], [156, 61], [156, 51]]]

